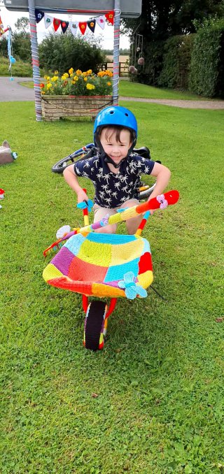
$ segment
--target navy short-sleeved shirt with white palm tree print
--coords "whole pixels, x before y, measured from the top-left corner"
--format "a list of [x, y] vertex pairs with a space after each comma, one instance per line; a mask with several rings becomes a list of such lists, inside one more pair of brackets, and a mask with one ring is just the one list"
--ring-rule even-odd
[[95, 189], [94, 203], [103, 208], [117, 208], [128, 199], [138, 199], [141, 174], [150, 175], [155, 161], [131, 153], [120, 165], [118, 173], [110, 171], [109, 166], [99, 155], [81, 159], [74, 166], [76, 176], [89, 178]]

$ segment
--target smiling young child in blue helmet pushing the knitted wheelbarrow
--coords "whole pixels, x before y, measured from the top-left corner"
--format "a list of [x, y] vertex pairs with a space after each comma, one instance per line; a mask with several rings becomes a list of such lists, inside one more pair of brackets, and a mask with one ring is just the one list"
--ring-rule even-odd
[[[148, 201], [161, 194], [167, 186], [170, 171], [166, 166], [132, 152], [137, 142], [137, 120], [127, 108], [109, 106], [99, 112], [94, 122], [94, 157], [81, 159], [67, 166], [64, 178], [76, 192], [78, 203], [88, 199], [80, 187], [78, 178], [89, 178], [95, 190], [94, 222], [106, 214], [116, 214], [119, 208], [139, 204], [138, 188], [142, 174], [156, 178], [155, 189]], [[153, 211], [151, 211], [153, 213]], [[142, 216], [126, 221], [128, 234], [135, 234]], [[98, 232], [116, 234], [116, 224], [109, 224]]]

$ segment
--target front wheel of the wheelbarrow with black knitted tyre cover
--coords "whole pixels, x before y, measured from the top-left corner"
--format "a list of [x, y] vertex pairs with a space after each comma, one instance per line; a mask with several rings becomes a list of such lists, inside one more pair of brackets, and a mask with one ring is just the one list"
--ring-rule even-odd
[[85, 349], [100, 350], [104, 347], [106, 339], [106, 311], [107, 305], [104, 301], [91, 301], [87, 308], [84, 326]]

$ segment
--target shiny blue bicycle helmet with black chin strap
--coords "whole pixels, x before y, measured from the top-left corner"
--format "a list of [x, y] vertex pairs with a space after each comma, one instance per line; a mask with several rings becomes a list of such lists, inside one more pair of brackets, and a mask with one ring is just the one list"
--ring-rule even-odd
[[[134, 117], [134, 114], [127, 108], [120, 107], [120, 106], [109, 106], [109, 107], [103, 108], [98, 113], [96, 120], [94, 122], [93, 136], [94, 136], [94, 145], [96, 145], [102, 153], [104, 152], [104, 150], [102, 149], [102, 145], [99, 140], [99, 132], [102, 129], [102, 127], [107, 127], [107, 126], [109, 127], [119, 126], [119, 127], [124, 127], [132, 131], [134, 140], [130, 149], [128, 150], [128, 155], [130, 155], [130, 153], [132, 152], [137, 142], [137, 134], [138, 134], [137, 120]], [[120, 166], [120, 164], [116, 165], [114, 161], [110, 157], [107, 157], [106, 155], [104, 156], [104, 161], [106, 161], [107, 163], [112, 163], [113, 166], [115, 166], [116, 168], [119, 168]]]

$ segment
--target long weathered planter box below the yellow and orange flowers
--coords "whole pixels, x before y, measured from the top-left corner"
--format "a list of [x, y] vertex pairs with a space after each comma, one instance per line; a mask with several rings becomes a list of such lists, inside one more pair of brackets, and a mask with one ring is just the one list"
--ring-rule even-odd
[[61, 117], [96, 117], [99, 110], [112, 104], [112, 96], [42, 96], [45, 120]]

